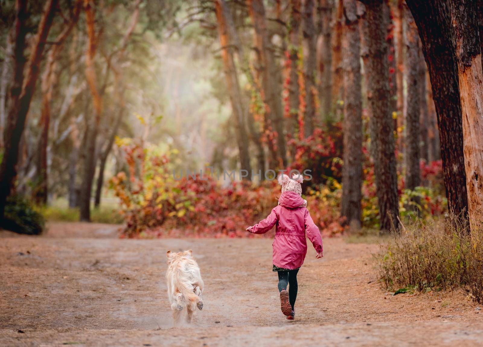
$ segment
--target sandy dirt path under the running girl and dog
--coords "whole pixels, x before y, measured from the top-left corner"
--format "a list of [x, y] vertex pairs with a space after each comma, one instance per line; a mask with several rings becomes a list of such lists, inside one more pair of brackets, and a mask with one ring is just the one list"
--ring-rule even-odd
[[[310, 249], [298, 275], [297, 319], [287, 321], [271, 240], [122, 240], [116, 230], [56, 223], [41, 237], [0, 231], [0, 346], [483, 343], [483, 310], [463, 292], [391, 296], [380, 289], [375, 245], [325, 239], [322, 261]], [[174, 329], [165, 253], [189, 248], [205, 281], [204, 308], [191, 327]]]

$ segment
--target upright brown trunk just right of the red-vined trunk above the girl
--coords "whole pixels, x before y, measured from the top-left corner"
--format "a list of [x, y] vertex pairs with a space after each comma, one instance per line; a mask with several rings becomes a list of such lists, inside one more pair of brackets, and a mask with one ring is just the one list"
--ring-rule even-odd
[[303, 55], [304, 55], [304, 82], [305, 82], [305, 112], [304, 112], [304, 135], [309, 137], [315, 127], [315, 73], [317, 69], [317, 36], [313, 24], [314, 0], [303, 0], [302, 32], [303, 32]]

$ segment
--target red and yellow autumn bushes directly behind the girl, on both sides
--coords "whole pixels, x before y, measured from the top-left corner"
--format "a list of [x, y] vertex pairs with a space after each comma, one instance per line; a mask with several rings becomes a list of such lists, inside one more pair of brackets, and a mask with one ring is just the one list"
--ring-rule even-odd
[[[110, 183], [126, 223], [123, 237], [254, 237], [245, 228], [267, 217], [281, 194], [275, 180], [224, 185], [226, 182], [199, 173], [189, 177], [185, 173], [178, 180], [169, 157], [158, 154], [156, 148], [143, 149], [131, 141], [118, 145], [125, 152], [129, 170], [118, 173]], [[311, 190], [306, 196], [323, 234], [342, 231], [339, 195], [325, 188]], [[273, 237], [273, 233], [264, 236]]]

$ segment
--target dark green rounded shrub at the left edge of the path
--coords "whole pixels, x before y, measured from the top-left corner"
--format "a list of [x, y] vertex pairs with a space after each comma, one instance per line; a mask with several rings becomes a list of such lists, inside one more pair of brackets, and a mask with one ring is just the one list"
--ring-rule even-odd
[[45, 220], [24, 198], [12, 196], [7, 199], [1, 226], [20, 234], [39, 235], [45, 229]]

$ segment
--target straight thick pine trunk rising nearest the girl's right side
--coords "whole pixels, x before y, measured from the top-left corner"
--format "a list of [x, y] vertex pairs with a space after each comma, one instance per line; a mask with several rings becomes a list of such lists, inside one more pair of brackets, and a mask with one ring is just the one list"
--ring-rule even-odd
[[362, 96], [360, 33], [355, 0], [344, 0], [344, 166], [342, 168], [341, 216], [346, 223], [361, 225]]

